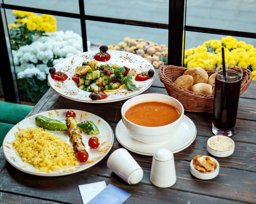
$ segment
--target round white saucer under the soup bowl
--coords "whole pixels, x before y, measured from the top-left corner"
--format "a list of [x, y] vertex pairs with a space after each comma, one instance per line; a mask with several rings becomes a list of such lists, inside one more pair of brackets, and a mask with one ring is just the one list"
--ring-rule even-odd
[[157, 149], [166, 148], [173, 154], [186, 149], [193, 143], [196, 136], [196, 127], [193, 121], [184, 115], [182, 124], [176, 134], [170, 139], [159, 144], [146, 144], [135, 140], [130, 136], [124, 123], [120, 120], [115, 129], [118, 142], [126, 149], [137, 154], [153, 156]]

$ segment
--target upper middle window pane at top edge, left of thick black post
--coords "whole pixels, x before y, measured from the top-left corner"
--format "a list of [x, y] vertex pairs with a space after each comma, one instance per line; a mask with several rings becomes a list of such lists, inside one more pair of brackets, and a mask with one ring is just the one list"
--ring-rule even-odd
[[84, 0], [85, 15], [168, 24], [168, 0]]

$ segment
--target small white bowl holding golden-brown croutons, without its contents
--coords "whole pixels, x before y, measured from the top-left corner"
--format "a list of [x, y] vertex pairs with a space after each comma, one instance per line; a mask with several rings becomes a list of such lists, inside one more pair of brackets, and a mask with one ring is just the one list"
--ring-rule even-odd
[[[206, 157], [206, 156], [204, 156], [204, 157]], [[190, 162], [190, 172], [191, 172], [191, 174], [193, 176], [195, 176], [196, 178], [199, 178], [199, 179], [202, 179], [202, 180], [209, 180], [209, 179], [215, 178], [219, 174], [220, 164], [215, 158], [211, 157], [211, 159], [213, 159], [216, 162], [216, 168], [215, 168], [214, 171], [203, 173], [201, 171], [196, 170], [195, 169], [196, 165], [193, 165], [193, 159], [192, 159], [191, 162]]]

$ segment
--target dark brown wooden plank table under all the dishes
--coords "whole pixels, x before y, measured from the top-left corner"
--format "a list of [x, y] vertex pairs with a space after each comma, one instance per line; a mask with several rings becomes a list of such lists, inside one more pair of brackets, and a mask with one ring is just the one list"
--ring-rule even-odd
[[[144, 93], [167, 94], [158, 75]], [[115, 132], [121, 119], [121, 106], [116, 103], [89, 104], [60, 97], [52, 89], [43, 96], [28, 116], [54, 109], [77, 109], [104, 118]], [[212, 180], [199, 180], [190, 173], [189, 163], [198, 154], [208, 155], [206, 142], [211, 132], [211, 114], [185, 112], [197, 127], [195, 141], [176, 153], [177, 181], [170, 188], [161, 189], [150, 183], [151, 156], [130, 152], [144, 170], [141, 182], [129, 185], [107, 168], [108, 156], [122, 146], [115, 138], [110, 153], [90, 169], [59, 177], [40, 177], [23, 173], [6, 162], [0, 148], [0, 203], [82, 203], [78, 185], [105, 181], [131, 196], [126, 203], [233, 203], [256, 202], [256, 81], [253, 81], [239, 101], [234, 154], [217, 158], [220, 173]], [[108, 203], [106, 201], [106, 203]]]

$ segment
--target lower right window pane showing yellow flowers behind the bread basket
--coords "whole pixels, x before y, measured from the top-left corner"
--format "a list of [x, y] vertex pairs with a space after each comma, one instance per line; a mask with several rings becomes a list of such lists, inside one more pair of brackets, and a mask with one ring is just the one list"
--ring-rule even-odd
[[216, 68], [224, 46], [226, 63], [256, 70], [256, 39], [186, 32], [185, 45], [185, 67]]

